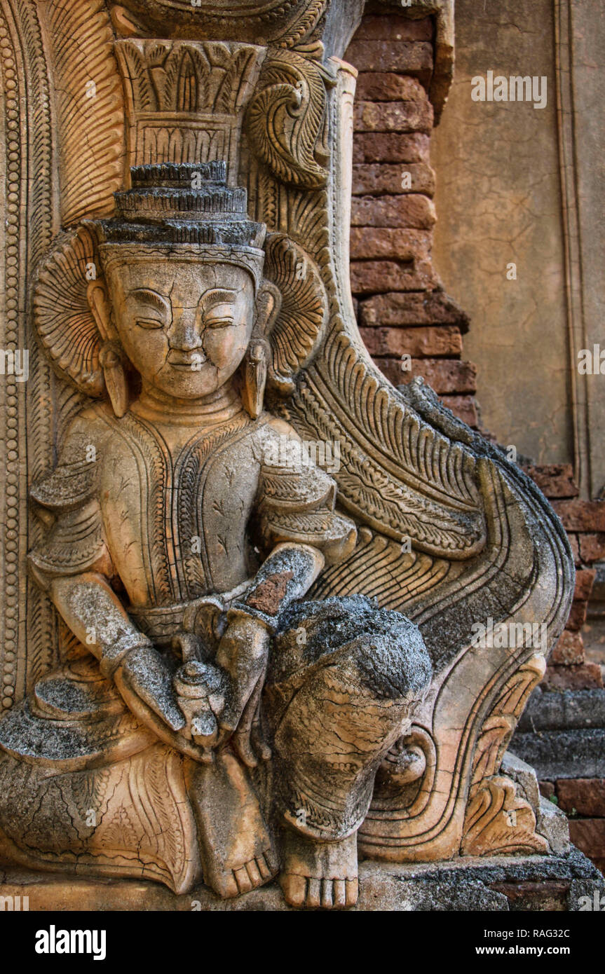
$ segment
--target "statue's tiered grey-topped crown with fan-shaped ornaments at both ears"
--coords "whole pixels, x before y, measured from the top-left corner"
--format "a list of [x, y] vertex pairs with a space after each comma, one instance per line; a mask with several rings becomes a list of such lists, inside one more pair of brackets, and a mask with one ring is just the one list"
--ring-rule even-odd
[[259, 300], [272, 304], [271, 324], [263, 332], [268, 379], [289, 392], [294, 375], [318, 348], [327, 319], [318, 265], [285, 234], [265, 240], [265, 225], [247, 215], [246, 190], [227, 185], [225, 163], [140, 166], [131, 172], [132, 189], [114, 194], [115, 215], [63, 234], [40, 268], [35, 325], [59, 376], [87, 395], [110, 393], [116, 407], [111, 370], [119, 350], [115, 335], [99, 324], [102, 316], [93, 313], [106, 300], [100, 279], [121, 262], [171, 255], [242, 267], [257, 295], [263, 284], [267, 293], [257, 298], [257, 307]]

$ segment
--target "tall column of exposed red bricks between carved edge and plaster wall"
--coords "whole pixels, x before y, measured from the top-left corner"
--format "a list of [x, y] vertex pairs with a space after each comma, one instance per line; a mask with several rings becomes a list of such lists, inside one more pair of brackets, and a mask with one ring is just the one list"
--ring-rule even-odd
[[396, 386], [422, 377], [476, 427], [476, 370], [460, 360], [468, 319], [431, 261], [434, 34], [430, 17], [368, 16], [345, 55], [359, 70], [351, 285], [361, 336], [384, 374]]

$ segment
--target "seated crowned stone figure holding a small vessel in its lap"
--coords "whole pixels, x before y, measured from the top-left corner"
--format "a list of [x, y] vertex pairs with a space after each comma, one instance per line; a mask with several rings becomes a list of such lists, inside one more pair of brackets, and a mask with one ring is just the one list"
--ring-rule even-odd
[[265, 228], [219, 164], [203, 174], [135, 169], [116, 218], [81, 231], [98, 374], [83, 318], [57, 310], [42, 336], [108, 398], [31, 491], [62, 656], [0, 722], [0, 843], [38, 868], [203, 878], [223, 897], [280, 872], [288, 903], [343, 907], [431, 664], [397, 612], [305, 599], [356, 528], [264, 409], [281, 300]]

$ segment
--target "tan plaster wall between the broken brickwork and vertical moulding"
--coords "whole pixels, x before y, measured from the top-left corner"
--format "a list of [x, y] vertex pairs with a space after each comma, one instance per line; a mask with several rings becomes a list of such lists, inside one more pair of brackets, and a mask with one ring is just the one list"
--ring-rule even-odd
[[[547, 107], [473, 101], [471, 80], [488, 70], [547, 75]], [[552, 0], [457, 0], [455, 80], [432, 161], [435, 266], [471, 316], [482, 425], [537, 463], [570, 462]]]

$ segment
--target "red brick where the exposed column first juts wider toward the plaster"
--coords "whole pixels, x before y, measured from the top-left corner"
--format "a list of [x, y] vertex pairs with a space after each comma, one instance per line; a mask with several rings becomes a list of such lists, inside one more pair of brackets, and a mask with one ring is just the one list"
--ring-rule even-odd
[[359, 302], [361, 324], [457, 324], [468, 330], [469, 319], [442, 290], [427, 294], [379, 294]]

